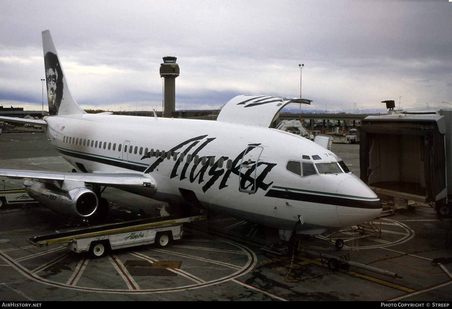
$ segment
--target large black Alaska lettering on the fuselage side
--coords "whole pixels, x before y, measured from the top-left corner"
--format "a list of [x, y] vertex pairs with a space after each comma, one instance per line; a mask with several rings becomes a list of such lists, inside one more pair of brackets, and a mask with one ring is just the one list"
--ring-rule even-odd
[[[276, 166], [276, 163], [268, 163], [268, 162], [261, 162], [259, 161], [258, 164], [255, 164], [251, 169], [249, 169], [246, 173], [240, 172], [240, 161], [243, 158], [243, 156], [246, 154], [246, 152], [250, 152], [250, 150], [253, 149], [253, 147], [247, 147], [248, 150], [243, 150], [235, 159], [231, 159], [231, 166], [230, 168], [226, 168], [226, 161], [230, 158], [227, 156], [221, 156], [221, 158], [216, 158], [215, 156], [207, 156], [206, 162], [209, 162], [210, 159], [213, 157], [214, 164], [211, 166], [210, 164], [204, 164], [202, 165], [202, 161], [198, 160], [197, 163], [195, 163], [193, 160], [189, 160], [187, 162], [186, 159], [188, 155], [190, 155], [190, 158], [193, 158], [194, 156], [198, 155], [202, 157], [202, 150], [212, 141], [216, 140], [215, 137], [213, 138], [207, 138], [207, 135], [203, 136], [197, 136], [194, 138], [191, 138], [189, 140], [185, 140], [184, 142], [180, 143], [179, 145], [173, 147], [170, 149], [170, 152], [172, 154], [177, 153], [178, 158], [173, 161], [173, 169], [171, 171], [170, 178], [179, 178], [179, 181], [183, 181], [184, 179], [187, 179], [190, 181], [190, 183], [194, 183], [195, 181], [198, 182], [198, 184], [202, 184], [202, 191], [206, 192], [208, 189], [210, 189], [215, 183], [218, 181], [218, 189], [223, 189], [225, 187], [228, 187], [227, 184], [228, 180], [230, 179], [231, 174], [239, 175], [241, 182], [243, 182], [243, 186], [250, 186], [252, 184], [252, 190], [257, 191], [257, 189], [262, 189], [266, 191], [268, 187], [273, 183], [264, 183], [264, 179], [267, 176], [267, 174], [273, 169], [273, 167]], [[260, 144], [250, 144], [248, 146], [259, 146]], [[180, 159], [180, 156], [182, 155], [182, 160]], [[149, 158], [155, 158], [151, 156], [150, 153], [147, 153], [144, 155], [141, 160], [143, 159], [149, 159]], [[162, 162], [164, 162], [165, 159], [159, 156], [154, 163], [152, 163], [144, 173], [152, 173]], [[221, 164], [220, 164], [221, 161]], [[221, 166], [221, 167], [220, 167]], [[254, 178], [251, 175], [254, 175], [254, 169], [257, 169], [256, 178]], [[255, 188], [254, 188], [255, 183]]]

